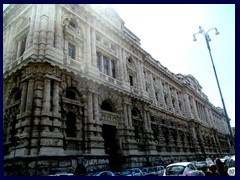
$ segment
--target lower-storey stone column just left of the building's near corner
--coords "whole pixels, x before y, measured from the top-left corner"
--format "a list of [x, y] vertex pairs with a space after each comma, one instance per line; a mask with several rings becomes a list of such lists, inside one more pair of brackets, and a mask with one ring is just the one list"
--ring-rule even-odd
[[34, 93], [34, 79], [28, 80], [27, 100], [26, 100], [26, 113], [31, 115], [33, 107], [33, 93]]

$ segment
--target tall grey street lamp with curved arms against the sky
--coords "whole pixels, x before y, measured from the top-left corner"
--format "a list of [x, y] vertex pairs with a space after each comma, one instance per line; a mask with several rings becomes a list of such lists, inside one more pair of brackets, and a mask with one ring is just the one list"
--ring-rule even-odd
[[221, 96], [221, 100], [222, 100], [223, 110], [224, 110], [224, 113], [225, 113], [225, 116], [226, 116], [226, 119], [227, 119], [227, 124], [228, 124], [228, 128], [229, 128], [231, 140], [232, 140], [232, 143], [233, 143], [233, 145], [234, 145], [232, 129], [231, 129], [231, 126], [230, 126], [230, 121], [229, 121], [228, 114], [227, 114], [227, 110], [226, 110], [225, 103], [224, 103], [224, 100], [223, 100], [221, 88], [220, 88], [219, 81], [218, 81], [218, 77], [217, 77], [217, 72], [216, 72], [216, 69], [215, 69], [215, 66], [214, 66], [214, 63], [213, 63], [211, 48], [210, 48], [210, 45], [209, 45], [209, 42], [211, 41], [211, 39], [210, 39], [208, 33], [209, 33], [209, 31], [211, 31], [211, 30], [215, 30], [215, 35], [218, 35], [218, 34], [219, 34], [217, 28], [211, 28], [211, 29], [209, 29], [207, 32], [205, 32], [205, 31], [203, 30], [203, 28], [202, 28], [201, 26], [199, 26], [199, 32], [193, 34], [193, 41], [197, 41], [197, 39], [196, 39], [196, 35], [197, 35], [197, 34], [202, 34], [202, 35], [204, 36], [204, 38], [205, 38], [205, 41], [206, 41], [206, 44], [207, 44], [207, 48], [208, 48], [208, 51], [209, 51], [209, 54], [210, 54], [210, 57], [211, 57], [214, 74], [215, 74], [215, 77], [216, 77], [216, 80], [217, 80], [218, 90], [219, 90], [219, 93], [220, 93], [220, 96]]

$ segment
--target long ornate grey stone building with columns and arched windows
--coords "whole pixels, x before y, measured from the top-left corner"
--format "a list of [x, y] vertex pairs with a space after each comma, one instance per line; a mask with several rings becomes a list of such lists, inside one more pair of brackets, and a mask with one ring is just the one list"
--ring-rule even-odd
[[19, 4], [3, 20], [5, 175], [234, 153], [223, 110], [144, 51], [112, 8]]

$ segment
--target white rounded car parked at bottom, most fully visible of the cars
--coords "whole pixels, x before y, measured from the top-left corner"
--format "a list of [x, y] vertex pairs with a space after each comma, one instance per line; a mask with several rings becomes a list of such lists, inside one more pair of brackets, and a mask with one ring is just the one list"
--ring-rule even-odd
[[186, 176], [189, 171], [197, 170], [192, 162], [178, 162], [167, 165], [164, 176]]

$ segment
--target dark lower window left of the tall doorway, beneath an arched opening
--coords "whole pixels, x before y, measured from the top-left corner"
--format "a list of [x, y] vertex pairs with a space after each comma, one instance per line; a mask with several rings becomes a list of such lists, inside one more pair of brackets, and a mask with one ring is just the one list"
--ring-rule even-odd
[[73, 112], [68, 112], [66, 122], [66, 134], [67, 137], [76, 137], [76, 117]]

